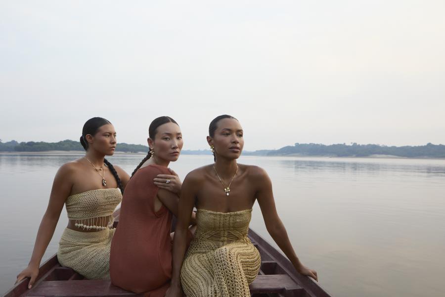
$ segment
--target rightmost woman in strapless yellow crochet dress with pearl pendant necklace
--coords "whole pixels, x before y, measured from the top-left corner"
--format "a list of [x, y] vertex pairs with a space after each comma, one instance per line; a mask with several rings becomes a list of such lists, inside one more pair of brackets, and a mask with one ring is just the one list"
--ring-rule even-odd
[[[173, 247], [172, 283], [166, 297], [250, 297], [249, 284], [261, 258], [247, 237], [252, 206], [258, 200], [267, 231], [298, 272], [317, 273], [298, 259], [275, 208], [272, 185], [260, 167], [237, 164], [243, 130], [229, 115], [215, 118], [207, 137], [215, 163], [191, 171], [179, 199]], [[190, 211], [196, 206], [197, 230], [185, 254]], [[181, 288], [182, 284], [182, 288]]]

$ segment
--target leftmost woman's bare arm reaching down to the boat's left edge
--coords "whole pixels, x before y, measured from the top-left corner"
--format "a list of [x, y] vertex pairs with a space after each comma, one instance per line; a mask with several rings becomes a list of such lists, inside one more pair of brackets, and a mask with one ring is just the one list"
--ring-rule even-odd
[[65, 164], [57, 171], [52, 184], [51, 194], [49, 196], [48, 207], [40, 223], [39, 231], [37, 232], [36, 242], [34, 244], [33, 254], [29, 261], [28, 267], [17, 275], [16, 283], [30, 277], [28, 288], [31, 289], [39, 274], [39, 266], [42, 257], [45, 253], [54, 234], [55, 227], [60, 217], [60, 213], [65, 203], [66, 198], [70, 195], [72, 182], [70, 176], [72, 170], [70, 166]]

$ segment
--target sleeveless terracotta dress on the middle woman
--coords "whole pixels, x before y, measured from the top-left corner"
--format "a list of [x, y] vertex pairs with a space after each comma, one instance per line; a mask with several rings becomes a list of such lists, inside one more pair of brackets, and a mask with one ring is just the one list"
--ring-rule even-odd
[[159, 188], [153, 179], [158, 174], [171, 173], [166, 167], [148, 165], [130, 179], [110, 253], [113, 285], [150, 297], [163, 297], [172, 277], [173, 214], [164, 204], [154, 210]]

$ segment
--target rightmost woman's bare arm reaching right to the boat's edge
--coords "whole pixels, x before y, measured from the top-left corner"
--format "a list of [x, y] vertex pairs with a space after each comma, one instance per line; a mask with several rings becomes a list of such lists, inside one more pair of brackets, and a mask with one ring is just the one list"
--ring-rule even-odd
[[258, 204], [260, 205], [261, 212], [263, 213], [264, 222], [266, 224], [267, 232], [272, 239], [278, 245], [279, 248], [292, 262], [295, 269], [301, 274], [312, 277], [314, 280], [318, 280], [315, 270], [309, 269], [304, 266], [290, 243], [289, 237], [284, 228], [281, 219], [276, 212], [275, 201], [272, 193], [272, 183], [265, 170], [259, 167], [252, 168], [255, 173], [256, 184], [259, 185], [259, 190], [256, 193]]

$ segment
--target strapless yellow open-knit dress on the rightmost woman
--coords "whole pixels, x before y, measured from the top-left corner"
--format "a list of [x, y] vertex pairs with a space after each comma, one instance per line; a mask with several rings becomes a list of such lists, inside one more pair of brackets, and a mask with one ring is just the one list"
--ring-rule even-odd
[[181, 268], [187, 297], [250, 297], [249, 284], [261, 265], [247, 237], [251, 214], [197, 210], [197, 230]]

